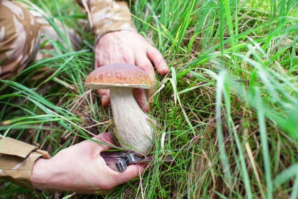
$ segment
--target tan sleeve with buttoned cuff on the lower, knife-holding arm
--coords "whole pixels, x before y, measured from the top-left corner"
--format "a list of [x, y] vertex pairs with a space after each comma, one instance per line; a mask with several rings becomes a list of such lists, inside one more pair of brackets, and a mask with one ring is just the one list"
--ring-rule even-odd
[[11, 139], [0, 139], [0, 177], [19, 184], [22, 187], [34, 189], [32, 169], [38, 158], [50, 159], [46, 151], [37, 146]]

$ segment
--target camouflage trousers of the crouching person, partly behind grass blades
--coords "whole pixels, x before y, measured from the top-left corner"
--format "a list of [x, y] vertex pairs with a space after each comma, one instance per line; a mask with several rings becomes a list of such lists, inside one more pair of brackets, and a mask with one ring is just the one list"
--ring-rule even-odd
[[[64, 44], [54, 28], [44, 19], [48, 17], [46, 13], [30, 1], [1, 0], [0, 10], [0, 79], [12, 79], [31, 60], [50, 57], [50, 54], [40, 51], [42, 49], [55, 51], [50, 42], [39, 48], [39, 44], [49, 37]], [[57, 20], [55, 22], [63, 32], [62, 24]], [[78, 49], [80, 38], [74, 30], [68, 27], [66, 30], [73, 49]], [[42, 35], [45, 37], [40, 39]], [[40, 71], [46, 70], [49, 69], [42, 68]], [[38, 74], [36, 76], [39, 77]]]

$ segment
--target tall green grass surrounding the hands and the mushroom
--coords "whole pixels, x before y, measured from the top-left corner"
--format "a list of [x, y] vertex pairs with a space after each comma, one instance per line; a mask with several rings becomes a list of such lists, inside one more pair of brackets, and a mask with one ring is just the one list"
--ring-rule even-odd
[[[82, 86], [94, 59], [86, 18], [71, 1], [58, 2], [37, 4], [51, 10], [50, 20], [63, 19], [81, 35], [81, 49], [52, 40], [52, 58], [31, 63], [15, 82], [1, 80], [9, 87], [0, 88], [1, 134], [52, 156], [112, 129], [111, 122], [100, 123], [112, 119], [110, 107]], [[170, 67], [158, 76], [150, 114], [156, 119], [154, 156], [175, 160], [153, 161], [141, 183], [132, 180], [105, 198], [296, 199], [298, 2], [135, 0], [131, 11], [140, 34]], [[53, 75], [30, 80], [44, 66]], [[0, 190], [6, 198], [54, 196], [4, 180]]]

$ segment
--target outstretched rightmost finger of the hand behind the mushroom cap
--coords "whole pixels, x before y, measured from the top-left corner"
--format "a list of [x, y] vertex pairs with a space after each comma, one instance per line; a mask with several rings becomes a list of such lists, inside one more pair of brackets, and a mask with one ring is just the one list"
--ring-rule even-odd
[[146, 50], [146, 54], [149, 60], [153, 62], [159, 74], [166, 75], [168, 73], [168, 65], [162, 54], [156, 48], [149, 46]]

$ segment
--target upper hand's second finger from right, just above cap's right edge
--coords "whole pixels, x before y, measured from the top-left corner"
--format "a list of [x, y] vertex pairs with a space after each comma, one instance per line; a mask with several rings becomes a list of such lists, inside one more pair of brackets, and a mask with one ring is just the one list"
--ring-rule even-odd
[[151, 79], [152, 83], [155, 82], [155, 73], [150, 60], [146, 56], [146, 52], [137, 52], [134, 56], [134, 64], [144, 70]]

